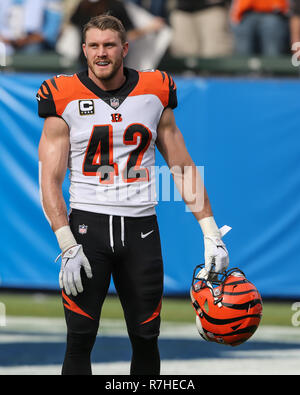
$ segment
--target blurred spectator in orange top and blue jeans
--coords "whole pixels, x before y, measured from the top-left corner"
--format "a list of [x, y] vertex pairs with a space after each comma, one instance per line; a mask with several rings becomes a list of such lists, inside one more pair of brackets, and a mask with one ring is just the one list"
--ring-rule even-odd
[[289, 0], [233, 0], [231, 22], [239, 55], [286, 53]]

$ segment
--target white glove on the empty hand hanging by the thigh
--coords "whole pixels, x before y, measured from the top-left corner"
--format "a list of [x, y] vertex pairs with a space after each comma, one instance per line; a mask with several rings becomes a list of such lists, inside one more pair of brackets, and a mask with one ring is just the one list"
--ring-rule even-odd
[[80, 275], [81, 267], [84, 268], [88, 278], [93, 277], [91, 266], [83, 253], [81, 244], [70, 247], [61, 254], [59, 286], [65, 288], [67, 295], [76, 296], [78, 292], [83, 291]]

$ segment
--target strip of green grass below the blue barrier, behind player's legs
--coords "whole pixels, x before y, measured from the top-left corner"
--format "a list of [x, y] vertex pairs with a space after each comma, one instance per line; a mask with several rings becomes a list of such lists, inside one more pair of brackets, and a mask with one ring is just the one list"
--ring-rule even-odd
[[[63, 317], [59, 295], [0, 293], [7, 316]], [[265, 302], [262, 325], [291, 326], [292, 302]], [[117, 297], [108, 296], [102, 309], [102, 318], [121, 319], [123, 312]], [[195, 314], [188, 298], [164, 298], [162, 320], [193, 323]]]

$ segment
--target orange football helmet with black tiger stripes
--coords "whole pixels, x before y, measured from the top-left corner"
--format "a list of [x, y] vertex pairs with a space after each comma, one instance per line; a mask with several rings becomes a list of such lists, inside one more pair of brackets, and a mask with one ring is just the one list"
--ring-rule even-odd
[[201, 277], [203, 268], [196, 266], [190, 290], [197, 329], [207, 341], [238, 346], [253, 335], [260, 323], [261, 296], [240, 269], [221, 275], [210, 272], [205, 279]]

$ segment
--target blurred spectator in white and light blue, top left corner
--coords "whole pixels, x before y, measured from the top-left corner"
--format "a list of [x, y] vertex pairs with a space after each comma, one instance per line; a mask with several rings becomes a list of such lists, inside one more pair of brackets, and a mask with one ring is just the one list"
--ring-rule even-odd
[[1, 0], [0, 40], [8, 55], [54, 49], [62, 24], [61, 0]]

